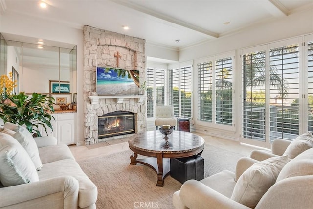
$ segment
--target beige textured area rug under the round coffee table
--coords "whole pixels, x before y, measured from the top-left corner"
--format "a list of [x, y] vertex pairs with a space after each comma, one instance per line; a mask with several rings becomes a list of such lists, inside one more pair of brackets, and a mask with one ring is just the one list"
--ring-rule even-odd
[[[181, 184], [171, 176], [156, 186], [156, 173], [149, 167], [130, 165], [131, 150], [79, 161], [83, 171], [98, 188], [98, 209], [174, 209], [172, 195]], [[242, 155], [205, 145], [204, 177], [224, 169], [235, 170]]]

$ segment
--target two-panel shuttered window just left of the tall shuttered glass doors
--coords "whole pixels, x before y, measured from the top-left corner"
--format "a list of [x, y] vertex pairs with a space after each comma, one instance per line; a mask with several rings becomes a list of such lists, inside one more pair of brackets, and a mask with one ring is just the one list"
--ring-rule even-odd
[[234, 53], [197, 61], [198, 121], [233, 126], [233, 66]]

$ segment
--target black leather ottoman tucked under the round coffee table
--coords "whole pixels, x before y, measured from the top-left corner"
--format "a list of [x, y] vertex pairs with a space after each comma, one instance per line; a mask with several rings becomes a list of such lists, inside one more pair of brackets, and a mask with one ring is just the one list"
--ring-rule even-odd
[[171, 158], [171, 177], [183, 184], [189, 179], [204, 178], [204, 159], [200, 155], [186, 158]]

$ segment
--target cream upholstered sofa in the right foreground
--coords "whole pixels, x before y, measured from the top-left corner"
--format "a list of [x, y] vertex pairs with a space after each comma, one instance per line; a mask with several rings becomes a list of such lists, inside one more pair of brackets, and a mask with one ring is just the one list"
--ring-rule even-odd
[[[312, 135], [311, 135], [312, 136]], [[313, 147], [313, 141], [309, 141], [309, 146]], [[288, 149], [290, 142], [286, 140], [275, 141], [273, 153], [255, 151], [252, 156], [261, 159], [255, 160], [243, 157], [237, 162], [235, 173], [224, 170], [220, 173], [209, 176], [201, 181], [188, 180], [173, 194], [173, 204], [176, 209], [311, 209], [313, 206], [313, 148], [300, 151], [293, 159], [288, 158], [288, 154], [283, 149]], [[280, 146], [281, 145], [281, 146]], [[299, 144], [297, 144], [299, 145]], [[297, 146], [296, 145], [296, 146]], [[303, 143], [302, 143], [303, 145]], [[298, 148], [301, 146], [297, 146]], [[303, 147], [302, 147], [303, 148]], [[284, 156], [282, 156], [285, 154]], [[268, 156], [268, 157], [266, 157]], [[273, 159], [276, 159], [273, 161]], [[286, 160], [279, 169], [277, 159]], [[272, 161], [270, 166], [264, 164]], [[253, 173], [255, 176], [262, 176], [258, 181], [253, 181], [255, 176], [249, 176], [249, 172], [258, 167], [259, 172]], [[263, 164], [263, 165], [262, 165]], [[276, 171], [268, 173], [268, 169]], [[274, 168], [273, 168], [274, 167]], [[252, 179], [252, 180], [251, 180]], [[256, 178], [254, 178], [256, 179]], [[271, 184], [264, 188], [268, 179]], [[246, 183], [246, 187], [242, 183]], [[256, 183], [256, 184], [255, 184]], [[237, 185], [236, 185], [237, 184]], [[244, 189], [238, 198], [238, 188]], [[243, 188], [242, 188], [243, 187]], [[253, 189], [251, 189], [253, 188]], [[263, 190], [263, 191], [262, 191]], [[259, 198], [254, 205], [249, 205], [255, 193], [259, 193]], [[253, 200], [254, 201], [254, 200]]]

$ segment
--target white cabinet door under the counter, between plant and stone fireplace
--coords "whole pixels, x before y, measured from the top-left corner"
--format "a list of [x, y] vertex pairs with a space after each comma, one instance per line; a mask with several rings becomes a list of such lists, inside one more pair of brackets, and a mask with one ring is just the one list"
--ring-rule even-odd
[[57, 135], [58, 144], [74, 144], [74, 120], [58, 120]]

